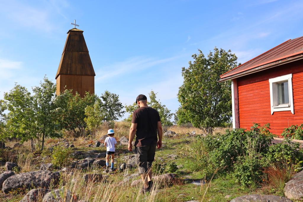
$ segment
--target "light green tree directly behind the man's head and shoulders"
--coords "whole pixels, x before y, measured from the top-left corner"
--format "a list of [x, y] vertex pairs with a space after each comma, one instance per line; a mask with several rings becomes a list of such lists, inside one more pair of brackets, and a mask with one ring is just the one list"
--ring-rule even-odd
[[[161, 104], [160, 100], [157, 100], [156, 93], [154, 91], [151, 91], [148, 93], [149, 100], [147, 102], [148, 106], [151, 108], [156, 109], [159, 112], [161, 123], [163, 127], [163, 131], [166, 132], [168, 127], [172, 125], [171, 118], [173, 116], [173, 113], [163, 104]], [[134, 102], [131, 105], [126, 105], [125, 109], [126, 112], [130, 113], [130, 116], [125, 119], [125, 121], [132, 121], [132, 113], [138, 108], [138, 105]]]

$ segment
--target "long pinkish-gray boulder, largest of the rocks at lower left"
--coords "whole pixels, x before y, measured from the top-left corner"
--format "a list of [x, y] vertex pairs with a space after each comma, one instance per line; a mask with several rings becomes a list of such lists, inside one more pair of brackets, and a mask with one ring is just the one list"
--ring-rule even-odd
[[2, 191], [7, 194], [18, 188], [48, 188], [51, 184], [58, 183], [59, 176], [58, 172], [52, 173], [51, 171], [31, 171], [12, 175], [4, 181]]

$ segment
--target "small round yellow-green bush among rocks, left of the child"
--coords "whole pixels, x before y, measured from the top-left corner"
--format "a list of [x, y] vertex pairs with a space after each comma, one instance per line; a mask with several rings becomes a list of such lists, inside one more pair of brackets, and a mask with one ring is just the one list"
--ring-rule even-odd
[[56, 146], [52, 152], [52, 163], [54, 166], [61, 167], [70, 162], [72, 150], [71, 148]]

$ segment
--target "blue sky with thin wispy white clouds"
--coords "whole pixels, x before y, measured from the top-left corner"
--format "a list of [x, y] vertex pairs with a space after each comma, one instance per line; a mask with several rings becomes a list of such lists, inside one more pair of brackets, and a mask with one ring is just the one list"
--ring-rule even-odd
[[245, 62], [303, 36], [302, 1], [6, 1], [0, 0], [0, 99], [15, 82], [29, 90], [44, 75], [55, 82], [66, 32], [84, 31], [95, 93], [132, 104], [158, 92], [178, 108], [181, 68], [201, 49], [231, 49]]

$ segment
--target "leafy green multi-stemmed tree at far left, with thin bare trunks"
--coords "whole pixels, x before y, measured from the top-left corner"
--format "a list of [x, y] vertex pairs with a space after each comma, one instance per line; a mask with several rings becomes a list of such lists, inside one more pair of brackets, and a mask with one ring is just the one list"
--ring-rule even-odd
[[18, 84], [4, 94], [8, 109], [7, 133], [21, 142], [30, 140], [32, 152], [43, 150], [45, 137], [59, 135], [58, 111], [53, 103], [55, 90], [55, 84], [45, 77], [39, 87], [33, 88], [33, 96]]

